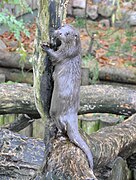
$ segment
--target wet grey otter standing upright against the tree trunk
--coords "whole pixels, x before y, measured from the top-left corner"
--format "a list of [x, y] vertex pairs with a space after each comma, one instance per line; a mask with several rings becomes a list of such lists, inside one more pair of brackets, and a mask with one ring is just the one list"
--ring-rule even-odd
[[78, 108], [80, 103], [81, 43], [78, 31], [71, 25], [64, 25], [53, 33], [54, 45], [43, 43], [42, 49], [49, 56], [53, 66], [54, 88], [50, 116], [58, 131], [68, 135], [87, 156], [93, 169], [93, 156], [78, 131]]

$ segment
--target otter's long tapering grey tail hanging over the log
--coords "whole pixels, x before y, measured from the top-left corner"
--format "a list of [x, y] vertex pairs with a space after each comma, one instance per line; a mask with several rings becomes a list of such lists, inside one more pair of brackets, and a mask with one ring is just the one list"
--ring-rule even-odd
[[[76, 127], [76, 128], [75, 128]], [[81, 137], [79, 131], [78, 131], [78, 126], [74, 126], [73, 124], [68, 122], [67, 124], [67, 135], [69, 139], [76, 144], [87, 156], [89, 166], [93, 170], [93, 156], [91, 153], [90, 148], [88, 147], [87, 143], [85, 140]]]

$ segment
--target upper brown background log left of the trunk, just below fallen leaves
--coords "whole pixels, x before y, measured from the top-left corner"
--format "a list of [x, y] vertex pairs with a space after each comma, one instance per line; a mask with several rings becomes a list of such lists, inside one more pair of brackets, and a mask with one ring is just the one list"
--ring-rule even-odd
[[[22, 69], [20, 54], [0, 49], [0, 67]], [[26, 59], [26, 62], [23, 62], [23, 68], [27, 70], [32, 69], [28, 59]]]

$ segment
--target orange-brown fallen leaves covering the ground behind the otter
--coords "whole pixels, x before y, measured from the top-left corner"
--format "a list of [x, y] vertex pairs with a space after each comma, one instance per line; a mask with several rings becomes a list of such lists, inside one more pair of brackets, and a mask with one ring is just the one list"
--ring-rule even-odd
[[[66, 22], [72, 24], [75, 22], [75, 19], [67, 18]], [[98, 26], [95, 25], [94, 30], [92, 29], [93, 27], [91, 25], [88, 26], [90, 34], [96, 32], [94, 36], [93, 50], [95, 51], [95, 56], [100, 66], [111, 65], [122, 67], [129, 65], [131, 67], [132, 64], [136, 64], [135, 56], [133, 56], [133, 54], [136, 54], [136, 36], [131, 37], [131, 52], [125, 51], [123, 53], [121, 47], [129, 40], [129, 36], [125, 35], [125, 29], [116, 30], [112, 27], [110, 30], [106, 30], [105, 27], [100, 28], [99, 24]], [[20, 43], [23, 43], [25, 51], [32, 54], [34, 49], [36, 24], [33, 23], [32, 25], [29, 25], [28, 30], [30, 32], [30, 37], [27, 37], [23, 32], [21, 32], [20, 42], [18, 42], [14, 37], [14, 34], [10, 32], [5, 32], [0, 35], [0, 39], [5, 43], [8, 51], [16, 51], [19, 48]], [[87, 52], [91, 37], [87, 34], [85, 28], [79, 28], [79, 31], [82, 49], [84, 52]], [[107, 53], [109, 53], [108, 56]]]

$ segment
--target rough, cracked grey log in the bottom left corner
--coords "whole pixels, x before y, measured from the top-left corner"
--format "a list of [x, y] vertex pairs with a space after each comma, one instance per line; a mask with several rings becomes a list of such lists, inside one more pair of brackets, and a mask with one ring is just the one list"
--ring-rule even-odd
[[45, 149], [43, 141], [6, 129], [0, 129], [0, 139], [0, 179], [6, 176], [6, 179], [30, 179], [42, 164]]

